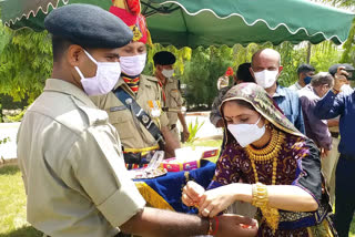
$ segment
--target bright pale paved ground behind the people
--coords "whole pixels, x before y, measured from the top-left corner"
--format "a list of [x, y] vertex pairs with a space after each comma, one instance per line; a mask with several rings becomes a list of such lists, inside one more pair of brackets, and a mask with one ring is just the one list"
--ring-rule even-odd
[[[189, 113], [186, 115], [186, 123], [195, 123], [197, 118], [199, 123], [204, 122], [201, 130], [197, 132], [196, 137], [199, 138], [209, 138], [216, 137], [217, 135], [222, 136], [222, 130], [215, 128], [213, 124], [210, 123], [210, 113]], [[0, 123], [0, 140], [4, 137], [10, 137], [10, 142], [0, 145], [0, 158], [11, 159], [17, 157], [16, 153], [16, 136], [20, 123]]]

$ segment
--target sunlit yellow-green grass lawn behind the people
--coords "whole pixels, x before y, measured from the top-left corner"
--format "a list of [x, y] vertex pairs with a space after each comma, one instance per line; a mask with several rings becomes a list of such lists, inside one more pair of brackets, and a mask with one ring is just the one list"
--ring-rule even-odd
[[[222, 141], [195, 142], [195, 146], [220, 147]], [[16, 166], [0, 168], [0, 237], [41, 237], [26, 221], [26, 194], [21, 172]], [[349, 237], [355, 237], [355, 218]]]

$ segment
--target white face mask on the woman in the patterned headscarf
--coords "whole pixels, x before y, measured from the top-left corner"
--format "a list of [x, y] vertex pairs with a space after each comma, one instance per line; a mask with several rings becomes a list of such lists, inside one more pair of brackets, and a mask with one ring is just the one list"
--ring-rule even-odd
[[265, 124], [263, 127], [258, 127], [257, 123], [261, 120], [258, 117], [257, 122], [254, 124], [229, 124], [227, 128], [236, 140], [236, 142], [245, 147], [248, 144], [260, 140], [265, 133]]

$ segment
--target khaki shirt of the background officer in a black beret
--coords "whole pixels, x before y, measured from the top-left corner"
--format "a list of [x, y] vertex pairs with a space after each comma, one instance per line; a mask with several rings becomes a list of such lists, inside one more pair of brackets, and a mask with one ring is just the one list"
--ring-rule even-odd
[[[181, 109], [183, 99], [180, 93], [179, 81], [175, 79], [168, 79], [168, 83], [163, 86], [165, 93], [164, 106], [169, 109]], [[178, 123], [178, 113], [168, 112], [169, 126]]]

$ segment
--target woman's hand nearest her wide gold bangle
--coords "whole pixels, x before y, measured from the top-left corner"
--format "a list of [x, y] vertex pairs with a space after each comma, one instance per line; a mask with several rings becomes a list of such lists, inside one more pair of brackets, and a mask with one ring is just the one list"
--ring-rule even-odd
[[204, 217], [213, 217], [225, 210], [236, 200], [236, 188], [234, 184], [221, 186], [206, 190], [200, 199], [200, 215]]

